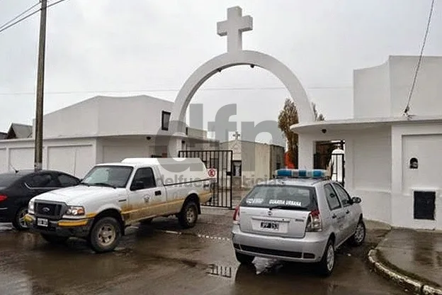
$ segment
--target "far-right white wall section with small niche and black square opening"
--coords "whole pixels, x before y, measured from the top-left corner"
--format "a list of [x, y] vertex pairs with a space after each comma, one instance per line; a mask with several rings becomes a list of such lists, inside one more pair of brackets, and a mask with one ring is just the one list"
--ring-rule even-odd
[[[392, 225], [442, 230], [442, 124], [402, 124], [392, 128]], [[416, 157], [419, 169], [409, 170]], [[414, 220], [412, 189], [436, 189], [436, 221]]]

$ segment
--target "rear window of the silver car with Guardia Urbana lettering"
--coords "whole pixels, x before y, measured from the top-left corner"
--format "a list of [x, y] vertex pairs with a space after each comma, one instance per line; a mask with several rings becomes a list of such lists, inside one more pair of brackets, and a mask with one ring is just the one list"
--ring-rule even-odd
[[241, 206], [312, 211], [317, 201], [313, 187], [259, 185], [244, 197]]

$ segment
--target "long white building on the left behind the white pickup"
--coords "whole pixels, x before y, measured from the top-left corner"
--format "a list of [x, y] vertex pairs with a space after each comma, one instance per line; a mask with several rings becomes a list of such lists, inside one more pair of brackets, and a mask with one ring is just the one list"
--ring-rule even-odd
[[[173, 105], [173, 101], [144, 95], [96, 96], [48, 113], [43, 119], [43, 169], [60, 169], [84, 177], [101, 162], [119, 162], [125, 157], [166, 157]], [[16, 124], [13, 127], [8, 134], [24, 129]], [[34, 134], [0, 140], [0, 172], [33, 168]], [[204, 130], [192, 128], [188, 128], [186, 140], [196, 148], [212, 142]], [[186, 145], [182, 144], [183, 149]]]

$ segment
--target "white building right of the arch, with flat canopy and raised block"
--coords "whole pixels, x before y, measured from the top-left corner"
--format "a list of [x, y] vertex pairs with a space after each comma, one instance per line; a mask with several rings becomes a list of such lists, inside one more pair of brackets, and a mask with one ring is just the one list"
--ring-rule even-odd
[[[307, 142], [345, 140], [345, 187], [365, 218], [442, 229], [442, 57], [392, 56], [353, 75], [353, 118], [292, 127]], [[310, 150], [300, 152], [310, 157]], [[417, 162], [417, 163], [416, 163]]]

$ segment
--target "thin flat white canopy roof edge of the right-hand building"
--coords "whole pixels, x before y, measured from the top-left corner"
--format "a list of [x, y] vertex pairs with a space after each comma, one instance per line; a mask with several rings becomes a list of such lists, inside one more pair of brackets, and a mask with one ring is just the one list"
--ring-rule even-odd
[[413, 123], [442, 123], [442, 116], [401, 116], [385, 118], [352, 118], [346, 120], [314, 121], [310, 123], [298, 123], [290, 126], [295, 133], [320, 133], [327, 131], [354, 131], [395, 124]]

